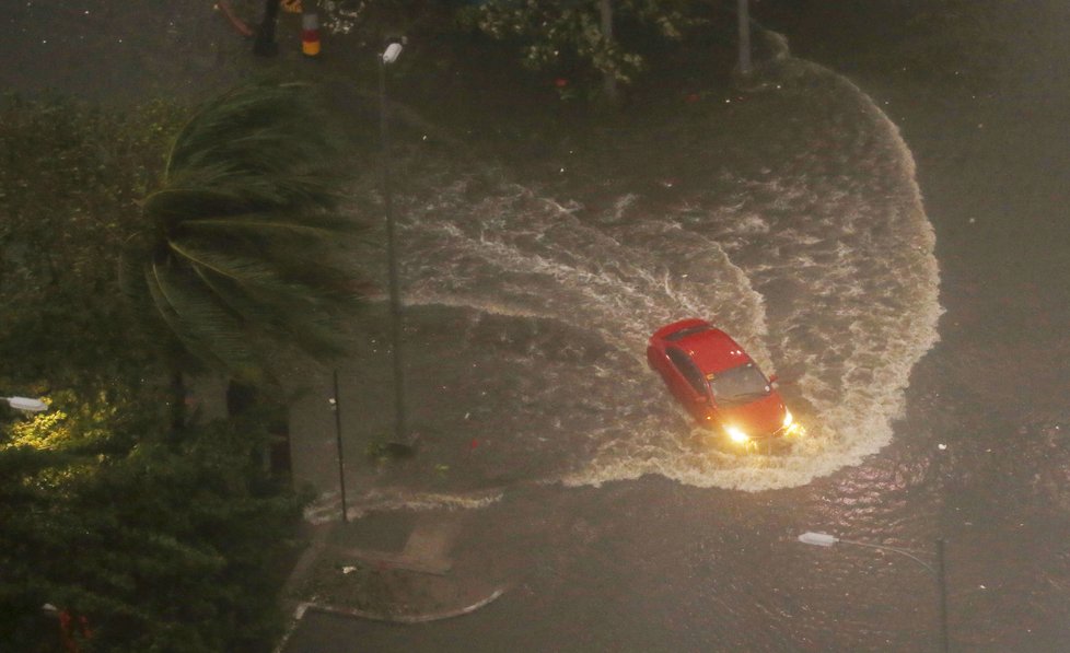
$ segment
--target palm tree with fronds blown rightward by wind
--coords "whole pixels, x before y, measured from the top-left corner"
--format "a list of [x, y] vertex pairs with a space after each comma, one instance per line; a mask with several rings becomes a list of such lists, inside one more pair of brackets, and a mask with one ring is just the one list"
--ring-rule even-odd
[[[338, 139], [305, 84], [257, 84], [206, 104], [178, 132], [142, 203], [121, 278], [160, 328], [184, 421], [183, 372], [277, 381], [287, 354], [345, 351], [361, 284], [340, 263]], [[181, 394], [179, 394], [181, 393]]]

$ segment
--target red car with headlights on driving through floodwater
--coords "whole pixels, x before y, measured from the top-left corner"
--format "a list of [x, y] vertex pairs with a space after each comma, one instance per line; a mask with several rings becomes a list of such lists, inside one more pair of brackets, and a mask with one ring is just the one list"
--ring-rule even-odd
[[736, 444], [801, 434], [780, 393], [743, 348], [705, 319], [683, 319], [650, 337], [647, 361], [695, 419]]

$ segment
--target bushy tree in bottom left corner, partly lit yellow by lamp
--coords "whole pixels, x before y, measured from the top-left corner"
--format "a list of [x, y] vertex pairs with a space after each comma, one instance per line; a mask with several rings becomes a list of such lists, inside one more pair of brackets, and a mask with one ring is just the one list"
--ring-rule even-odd
[[270, 650], [301, 501], [253, 464], [263, 429], [174, 443], [137, 401], [62, 403], [0, 427], [4, 650], [59, 650], [46, 603], [86, 619], [83, 651]]

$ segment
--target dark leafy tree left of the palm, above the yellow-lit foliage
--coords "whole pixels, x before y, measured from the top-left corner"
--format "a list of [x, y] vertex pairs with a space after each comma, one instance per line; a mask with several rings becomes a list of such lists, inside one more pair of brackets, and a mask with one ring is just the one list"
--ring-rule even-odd
[[0, 106], [0, 392], [93, 395], [152, 376], [116, 270], [182, 113]]

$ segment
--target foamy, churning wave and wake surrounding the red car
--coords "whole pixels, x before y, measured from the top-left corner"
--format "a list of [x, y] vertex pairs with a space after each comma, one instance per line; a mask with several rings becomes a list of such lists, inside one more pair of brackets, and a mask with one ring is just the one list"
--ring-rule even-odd
[[[579, 202], [509, 182], [476, 189], [462, 174], [406, 198], [409, 303], [563, 334], [501, 372], [526, 377], [522, 400], [501, 407], [521, 424], [515, 453], [536, 442], [553, 460], [526, 480], [659, 474], [757, 491], [807, 483], [891, 441], [910, 370], [937, 341], [933, 231], [896, 127], [842, 78], [790, 65], [795, 83], [777, 102], [802, 118], [758, 128], [767, 142], [747, 144], [776, 155], [754, 170], [696, 162], [697, 190], [624, 193], [593, 218]], [[644, 361], [649, 335], [685, 316], [714, 320], [767, 373], [783, 370], [803, 442], [741, 455], [689, 425]], [[602, 355], [554, 355], [569, 334], [593, 334]]]

